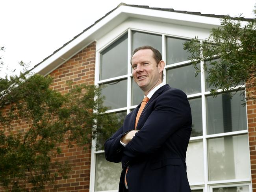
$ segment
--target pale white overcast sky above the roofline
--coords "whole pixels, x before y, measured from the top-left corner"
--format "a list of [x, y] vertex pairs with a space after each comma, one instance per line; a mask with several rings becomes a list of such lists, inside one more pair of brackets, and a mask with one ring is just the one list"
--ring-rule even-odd
[[256, 0], [0, 0], [0, 76], [19, 61], [37, 65], [121, 2], [203, 14], [254, 18]]

